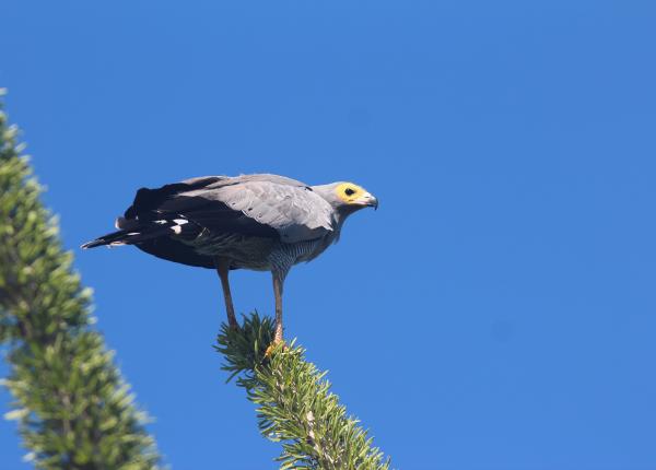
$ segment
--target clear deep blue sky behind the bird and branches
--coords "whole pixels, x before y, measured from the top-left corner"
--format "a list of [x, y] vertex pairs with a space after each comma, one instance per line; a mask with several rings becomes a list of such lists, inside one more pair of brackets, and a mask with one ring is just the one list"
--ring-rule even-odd
[[[285, 320], [395, 468], [656, 468], [653, 2], [0, 15], [8, 111], [174, 469], [276, 468], [211, 348], [218, 280], [78, 246], [141, 186], [254, 172], [380, 200], [292, 271]], [[271, 314], [268, 275], [238, 272], [233, 293]], [[2, 468], [22, 454], [0, 423]]]

